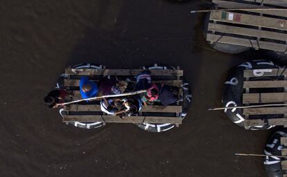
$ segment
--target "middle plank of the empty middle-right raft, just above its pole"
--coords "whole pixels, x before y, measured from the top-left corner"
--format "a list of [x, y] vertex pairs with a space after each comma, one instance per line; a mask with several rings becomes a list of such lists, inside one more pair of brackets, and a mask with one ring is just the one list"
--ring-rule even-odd
[[287, 102], [287, 93], [243, 93], [243, 104]]

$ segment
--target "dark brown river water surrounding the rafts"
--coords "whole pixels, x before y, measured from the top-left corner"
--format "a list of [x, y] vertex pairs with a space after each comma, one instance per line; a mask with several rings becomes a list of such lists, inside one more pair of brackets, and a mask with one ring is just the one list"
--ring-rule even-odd
[[[195, 0], [0, 1], [0, 176], [266, 176], [269, 131], [245, 131], [223, 112], [228, 69], [242, 56], [211, 49]], [[250, 59], [250, 58], [246, 58]], [[83, 130], [62, 123], [42, 98], [65, 66], [180, 66], [193, 104], [182, 126], [148, 133], [133, 124]]]

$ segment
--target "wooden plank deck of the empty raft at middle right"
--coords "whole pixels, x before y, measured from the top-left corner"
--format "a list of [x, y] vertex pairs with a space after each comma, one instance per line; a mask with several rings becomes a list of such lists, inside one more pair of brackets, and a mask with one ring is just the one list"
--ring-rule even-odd
[[[284, 104], [287, 103], [287, 71], [284, 68], [257, 69], [244, 71], [243, 105]], [[256, 81], [252, 81], [256, 77]], [[274, 80], [266, 80], [274, 77]], [[257, 93], [254, 91], [260, 91]], [[243, 109], [245, 129], [251, 126], [287, 125], [286, 106], [268, 106]]]

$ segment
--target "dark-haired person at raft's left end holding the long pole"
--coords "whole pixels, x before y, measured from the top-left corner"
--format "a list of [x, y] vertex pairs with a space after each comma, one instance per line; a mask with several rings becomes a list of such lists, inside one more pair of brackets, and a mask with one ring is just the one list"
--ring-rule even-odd
[[44, 97], [44, 102], [49, 108], [57, 108], [66, 100], [67, 96], [72, 97], [71, 93], [68, 93], [62, 88], [53, 90]]

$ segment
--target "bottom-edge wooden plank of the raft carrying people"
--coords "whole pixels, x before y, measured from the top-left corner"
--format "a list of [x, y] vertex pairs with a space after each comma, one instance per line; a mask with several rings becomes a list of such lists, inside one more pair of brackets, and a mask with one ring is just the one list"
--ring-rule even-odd
[[182, 118], [176, 117], [150, 117], [150, 116], [129, 116], [123, 119], [119, 116], [110, 115], [64, 115], [63, 122], [102, 122], [106, 123], [150, 123], [150, 124], [182, 124]]

